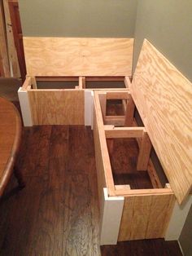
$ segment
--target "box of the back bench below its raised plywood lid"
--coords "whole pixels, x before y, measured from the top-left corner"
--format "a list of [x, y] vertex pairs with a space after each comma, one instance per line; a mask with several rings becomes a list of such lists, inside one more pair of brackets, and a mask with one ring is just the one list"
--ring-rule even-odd
[[[74, 89], [38, 89], [38, 82], [78, 82]], [[92, 116], [86, 102], [92, 102], [95, 89], [85, 88], [85, 82], [124, 82], [126, 77], [32, 77], [27, 76], [20, 88], [20, 105], [25, 126], [33, 125], [91, 125]], [[125, 90], [126, 88], [111, 90]], [[106, 90], [106, 89], [99, 89]], [[63, 100], [65, 97], [65, 100]], [[65, 101], [65, 103], [64, 103]], [[74, 103], [77, 103], [76, 106]], [[52, 103], [50, 105], [50, 103]], [[59, 108], [59, 105], [61, 108]], [[64, 114], [63, 114], [64, 113]], [[72, 117], [73, 113], [73, 117]], [[89, 117], [89, 120], [92, 117]]]

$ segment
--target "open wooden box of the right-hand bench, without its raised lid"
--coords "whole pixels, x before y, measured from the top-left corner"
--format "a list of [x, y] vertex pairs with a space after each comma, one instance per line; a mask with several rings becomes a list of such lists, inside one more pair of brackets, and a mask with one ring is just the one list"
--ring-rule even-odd
[[[108, 99], [126, 100], [124, 116], [107, 116]], [[98, 91], [94, 92], [94, 103], [101, 209], [103, 188], [107, 188], [111, 200], [117, 201], [117, 196], [124, 198], [118, 241], [164, 237], [175, 198], [170, 186], [162, 185], [156, 173], [151, 160], [151, 140], [145, 127], [137, 126], [132, 96], [129, 91]], [[108, 200], [104, 205], [108, 207]], [[102, 218], [107, 218], [105, 212], [101, 212]]]

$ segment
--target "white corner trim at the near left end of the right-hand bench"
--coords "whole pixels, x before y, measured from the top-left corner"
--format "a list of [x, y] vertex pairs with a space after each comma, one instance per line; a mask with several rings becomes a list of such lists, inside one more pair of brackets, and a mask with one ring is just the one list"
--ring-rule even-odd
[[124, 208], [124, 197], [109, 197], [107, 188], [103, 188], [102, 208], [100, 245], [116, 245], [120, 231], [120, 220]]

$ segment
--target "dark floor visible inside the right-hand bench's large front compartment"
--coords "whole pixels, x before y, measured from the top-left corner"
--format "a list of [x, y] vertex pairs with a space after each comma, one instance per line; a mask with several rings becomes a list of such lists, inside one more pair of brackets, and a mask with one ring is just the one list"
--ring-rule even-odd
[[136, 139], [107, 139], [115, 185], [129, 184], [131, 189], [153, 188], [147, 171], [137, 170]]

